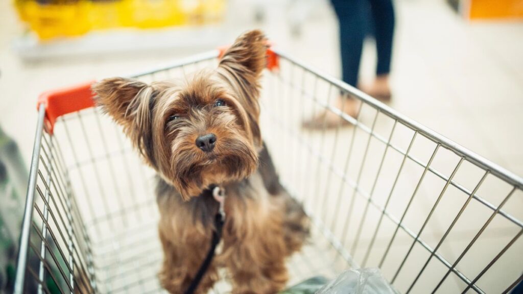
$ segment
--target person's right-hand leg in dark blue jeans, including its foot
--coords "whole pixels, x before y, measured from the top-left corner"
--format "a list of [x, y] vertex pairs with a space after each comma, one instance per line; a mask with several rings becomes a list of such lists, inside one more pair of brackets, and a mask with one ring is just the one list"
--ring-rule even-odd
[[378, 53], [376, 80], [365, 92], [376, 98], [388, 100], [391, 97], [389, 73], [394, 37], [394, 6], [392, 0], [369, 0], [374, 23], [374, 37]]

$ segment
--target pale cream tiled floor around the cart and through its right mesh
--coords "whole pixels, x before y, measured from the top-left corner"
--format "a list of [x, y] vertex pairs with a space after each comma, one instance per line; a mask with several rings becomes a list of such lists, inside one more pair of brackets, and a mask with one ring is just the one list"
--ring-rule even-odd
[[[312, 65], [320, 71], [339, 76], [339, 58], [337, 49], [336, 21], [333, 13], [323, 2], [311, 1], [313, 9], [310, 19], [301, 27], [301, 37], [293, 38], [285, 21], [289, 9], [285, 5], [269, 5], [266, 10], [266, 21], [261, 25], [249, 22], [248, 13], [229, 22], [230, 35], [236, 35], [247, 28], [261, 27], [269, 38], [282, 50], [290, 52], [295, 58]], [[245, 7], [241, 1], [233, 2], [234, 7]], [[243, 9], [242, 8], [242, 9]], [[245, 11], [245, 10], [242, 10]], [[126, 55], [90, 55], [83, 58], [32, 61], [23, 62], [18, 59], [16, 52], [11, 48], [14, 38], [22, 31], [16, 21], [15, 14], [9, 6], [9, 2], [0, 3], [0, 125], [13, 138], [17, 140], [28, 164], [32, 150], [33, 134], [36, 125], [35, 101], [38, 93], [55, 87], [70, 85], [96, 77], [111, 76], [126, 72], [134, 72], [151, 65], [162, 63], [166, 59], [175, 59], [191, 53], [204, 50], [195, 48], [191, 51], [162, 50], [160, 52], [142, 52]], [[451, 140], [469, 148], [470, 150], [486, 157], [489, 160], [507, 168], [517, 175], [523, 175], [523, 143], [521, 127], [523, 126], [523, 22], [466, 22], [454, 15], [442, 1], [419, 0], [396, 1], [397, 28], [393, 58], [392, 86], [394, 97], [389, 106], [400, 111], [408, 117], [422, 123], [425, 126], [445, 135]], [[227, 43], [232, 40], [223, 40]], [[374, 49], [372, 42], [363, 56], [362, 81], [366, 82], [372, 78]], [[270, 93], [265, 93], [270, 95]], [[267, 99], [265, 107], [275, 107], [281, 103], [278, 100]], [[289, 100], [290, 101], [290, 100]], [[293, 108], [296, 104], [278, 105], [287, 107], [291, 128], [297, 128], [299, 124], [299, 109]], [[310, 105], [309, 105], [310, 106]], [[311, 110], [312, 107], [306, 106]], [[363, 121], [370, 123], [371, 111], [363, 116]], [[390, 133], [390, 123], [378, 121], [377, 133], [387, 137]], [[338, 146], [348, 145], [351, 141], [353, 129], [345, 129], [339, 132]], [[408, 140], [412, 133], [408, 130], [395, 134], [392, 142], [406, 150]], [[274, 146], [280, 142], [278, 134], [267, 131], [268, 140]], [[275, 135], [276, 137], [270, 137]], [[314, 148], [324, 144], [324, 153], [334, 145], [334, 134], [329, 133], [323, 137], [320, 133], [303, 134]], [[365, 133], [356, 133], [357, 142], [366, 142]], [[292, 148], [300, 150], [292, 140], [288, 141]], [[383, 145], [378, 141], [370, 141], [369, 159], [363, 169], [361, 187], [369, 192], [374, 189], [373, 201], [376, 207], [382, 207], [386, 199], [391, 197], [388, 211], [399, 220], [407, 205], [408, 199], [414, 193], [415, 185], [422, 175], [423, 168], [406, 161], [405, 166], [398, 177], [396, 187], [392, 190], [393, 182], [402, 156], [390, 151], [384, 158], [382, 172], [377, 180], [375, 188], [373, 180], [376, 178], [381, 156], [384, 152]], [[360, 146], [361, 145], [361, 146]], [[347, 169], [347, 174], [352, 180], [358, 178], [358, 166], [362, 161], [365, 144], [356, 144], [353, 163]], [[274, 147], [273, 147], [274, 148]], [[412, 147], [412, 153], [422, 162], [427, 162], [434, 146], [430, 142], [416, 139]], [[439, 151], [438, 151], [439, 152]], [[438, 153], [433, 166], [445, 176], [452, 172], [453, 165], [458, 158], [447, 154], [446, 151]], [[311, 209], [315, 216], [325, 217], [327, 227], [332, 229], [340, 239], [340, 234], [347, 231], [342, 241], [346, 241], [347, 250], [353, 251], [356, 262], [361, 263], [372, 242], [372, 233], [376, 229], [380, 218], [378, 209], [369, 206], [365, 221], [362, 219], [368, 201], [359, 194], [353, 194], [353, 189], [344, 187], [341, 189], [340, 180], [336, 177], [327, 177], [328, 168], [322, 166], [315, 159], [306, 156], [306, 153], [292, 154], [292, 160], [305, 164], [311, 171], [286, 168], [285, 153], [275, 151], [275, 159], [280, 165], [283, 178], [296, 186], [292, 188], [303, 189], [301, 197], [306, 200], [306, 206]], [[320, 151], [320, 153], [322, 153]], [[335, 167], [343, 169], [343, 163], [347, 154], [343, 148], [337, 148], [333, 157]], [[302, 158], [303, 156], [303, 158]], [[302, 166], [302, 165], [300, 165]], [[460, 172], [456, 175], [456, 181], [468, 190], [473, 190], [482, 172], [473, 166], [464, 163]], [[300, 178], [302, 177], [302, 178]], [[487, 177], [486, 184], [477, 191], [494, 206], [501, 202], [507, 191], [507, 187], [497, 183], [495, 179]], [[306, 185], [303, 185], [303, 184]], [[416, 197], [413, 198], [411, 208], [405, 214], [403, 224], [417, 232], [425, 221], [427, 214], [438, 198], [445, 181], [428, 174], [419, 187]], [[342, 191], [342, 197], [338, 207], [336, 199], [338, 191]], [[321, 196], [327, 198], [322, 204], [320, 200], [311, 197], [319, 191]], [[347, 209], [350, 201], [354, 198], [353, 214], [347, 217]], [[523, 196], [521, 193], [514, 195], [505, 205], [504, 209], [515, 218], [523, 219]], [[354, 196], [353, 196], [354, 197]], [[302, 198], [302, 199], [303, 199]], [[441, 199], [435, 209], [433, 217], [427, 222], [421, 238], [432, 248], [438, 245], [441, 237], [445, 234], [448, 226], [456, 217], [456, 214], [467, 200], [456, 187], [451, 186], [446, 191], [445, 197]], [[333, 213], [340, 209], [339, 214]], [[490, 217], [492, 210], [472, 200], [467, 210], [456, 223], [453, 230], [449, 232], [445, 242], [440, 244], [438, 254], [450, 263], [456, 261], [463, 248], [477, 233], [481, 225]], [[345, 214], [344, 214], [345, 213]], [[344, 230], [344, 224], [350, 219], [348, 230]], [[359, 242], [354, 242], [358, 229], [361, 227]], [[388, 246], [390, 253], [383, 263], [383, 274], [391, 279], [399, 268], [403, 257], [412, 244], [412, 238], [407, 233], [399, 230], [394, 242], [390, 242], [396, 224], [389, 218], [383, 218], [378, 237], [376, 238], [368, 265], [377, 266], [380, 258]], [[485, 233], [478, 239], [469, 254], [463, 257], [458, 264], [458, 270], [464, 275], [475, 277], [488, 261], [501, 250], [501, 248], [517, 233], [513, 223], [497, 216], [494, 218]], [[500, 240], [502, 242], [500, 242]], [[351, 244], [358, 244], [352, 248]], [[502, 260], [485, 274], [479, 281], [479, 285], [486, 292], [496, 292], [495, 275], [496, 266], [519, 275], [521, 272], [520, 255], [522, 250], [521, 240], [515, 243], [507, 252], [513, 261]], [[500, 247], [501, 246], [501, 247]], [[477, 248], [483, 251], [477, 252]], [[412, 253], [405, 261], [404, 268], [397, 276], [395, 286], [400, 291], [407, 290], [406, 287], [414, 279], [411, 275], [419, 270], [428, 258], [427, 251], [419, 245], [413, 246]], [[431, 276], [442, 276], [447, 268], [441, 263], [431, 259], [426, 273], [420, 277], [413, 292], [423, 292], [419, 287], [434, 287], [438, 281], [429, 279]], [[420, 262], [422, 261], [422, 262]], [[516, 263], [515, 263], [516, 262]], [[519, 262], [519, 267], [518, 263]], [[300, 268], [297, 269], [298, 271]], [[493, 274], [494, 273], [494, 274]], [[518, 274], [519, 273], [519, 274]], [[463, 282], [451, 275], [442, 286], [442, 292], [453, 292], [463, 290]], [[508, 278], [513, 278], [512, 276]], [[508, 279], [507, 278], [507, 279]], [[482, 284], [483, 283], [483, 284]]]

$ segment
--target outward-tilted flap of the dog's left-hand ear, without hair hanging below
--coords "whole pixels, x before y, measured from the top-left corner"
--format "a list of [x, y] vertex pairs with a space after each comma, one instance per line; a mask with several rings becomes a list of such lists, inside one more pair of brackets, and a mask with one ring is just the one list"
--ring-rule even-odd
[[138, 80], [123, 77], [106, 78], [93, 85], [96, 94], [95, 101], [104, 112], [115, 119], [117, 123], [128, 127], [135, 119], [139, 99], [143, 99], [147, 84]]

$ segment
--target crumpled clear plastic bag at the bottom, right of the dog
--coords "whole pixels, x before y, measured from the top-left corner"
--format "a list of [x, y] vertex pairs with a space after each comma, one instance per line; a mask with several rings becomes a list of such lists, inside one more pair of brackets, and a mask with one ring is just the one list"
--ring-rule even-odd
[[349, 269], [316, 294], [396, 294], [378, 268]]

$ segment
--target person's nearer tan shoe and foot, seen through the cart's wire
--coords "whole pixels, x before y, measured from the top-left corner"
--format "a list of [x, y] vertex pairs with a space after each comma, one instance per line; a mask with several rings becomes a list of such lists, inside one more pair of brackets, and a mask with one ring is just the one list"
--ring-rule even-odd
[[[335, 107], [345, 112], [345, 114], [356, 118], [359, 105], [359, 100], [340, 96], [336, 101]], [[302, 127], [310, 130], [335, 129], [348, 125], [351, 125], [349, 121], [328, 109], [323, 110], [320, 114], [302, 122]]]

